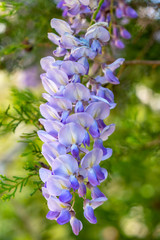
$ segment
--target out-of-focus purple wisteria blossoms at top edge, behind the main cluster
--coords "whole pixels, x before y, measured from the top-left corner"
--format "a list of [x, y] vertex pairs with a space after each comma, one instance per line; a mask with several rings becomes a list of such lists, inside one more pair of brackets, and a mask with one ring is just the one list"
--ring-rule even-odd
[[[63, 10], [63, 16], [69, 17], [72, 28], [78, 33], [87, 26], [86, 16], [93, 14], [99, 2], [98, 0], [60, 0], [57, 6]], [[96, 16], [96, 22], [112, 24], [111, 45], [122, 49], [125, 45], [121, 38], [131, 38], [131, 34], [123, 25], [129, 18], [137, 18], [137, 16], [137, 12], [125, 0], [104, 0]], [[119, 23], [118, 20], [121, 19], [123, 21]]]

